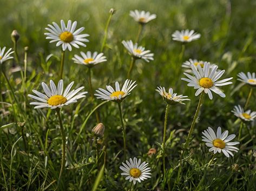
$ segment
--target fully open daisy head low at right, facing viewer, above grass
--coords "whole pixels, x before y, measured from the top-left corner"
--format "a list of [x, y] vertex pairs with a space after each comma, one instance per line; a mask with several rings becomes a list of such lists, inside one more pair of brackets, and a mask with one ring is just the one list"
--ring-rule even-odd
[[235, 138], [235, 134], [228, 135], [228, 131], [221, 134], [221, 127], [218, 127], [216, 134], [211, 127], [208, 127], [202, 134], [204, 134], [202, 141], [206, 142], [207, 147], [211, 147], [209, 152], [213, 151], [214, 154], [222, 152], [229, 157], [229, 154], [234, 156], [231, 151], [238, 152], [239, 150], [239, 148], [233, 146], [238, 145], [239, 142], [229, 142]]

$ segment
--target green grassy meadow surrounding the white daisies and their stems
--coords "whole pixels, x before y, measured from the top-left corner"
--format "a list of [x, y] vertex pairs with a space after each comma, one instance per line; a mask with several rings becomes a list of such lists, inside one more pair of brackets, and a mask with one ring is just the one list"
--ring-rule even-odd
[[[61, 160], [61, 137], [55, 111], [34, 110], [27, 94], [32, 89], [42, 91], [41, 82], [49, 84], [57, 79], [60, 71], [59, 47], [49, 44], [44, 32], [47, 24], [60, 23], [61, 19], [77, 21], [77, 27], [84, 26], [90, 35], [87, 47], [67, 52], [64, 67], [64, 84], [75, 81], [75, 86], [85, 86], [88, 90], [88, 72], [82, 65], [74, 64], [71, 58], [80, 51], [99, 51], [104, 35], [109, 9], [117, 11], [111, 20], [107, 47], [104, 54], [108, 62], [93, 69], [93, 87], [122, 84], [127, 76], [130, 57], [121, 44], [122, 40], [135, 40], [138, 24], [129, 16], [130, 10], [146, 10], [156, 13], [157, 18], [148, 23], [143, 31], [140, 44], [151, 50], [154, 61], [145, 63], [137, 60], [131, 79], [138, 86], [123, 102], [124, 122], [127, 126], [128, 156], [138, 156], [149, 162], [152, 178], [137, 184], [135, 190], [156, 190], [161, 187], [161, 142], [165, 115], [165, 103], [155, 91], [159, 85], [173, 87], [178, 94], [188, 95], [191, 101], [185, 106], [170, 108], [168, 118], [168, 169], [173, 190], [254, 190], [255, 189], [255, 123], [243, 129], [240, 151], [234, 158], [227, 159], [223, 154], [216, 155], [214, 166], [206, 165], [212, 155], [201, 141], [201, 131], [208, 126], [215, 130], [218, 126], [238, 135], [240, 121], [231, 110], [234, 105], [244, 105], [248, 86], [237, 81], [239, 72], [255, 72], [255, 1], [0, 1], [0, 47], [12, 47], [10, 34], [18, 30], [19, 65], [23, 68], [23, 47], [29, 46], [27, 81], [21, 82], [19, 72], [11, 72], [11, 62], [3, 67], [15, 90], [16, 98], [25, 116], [18, 112], [9, 88], [1, 77], [4, 102], [1, 105], [0, 121], [0, 188], [5, 190], [54, 190], [57, 188]], [[189, 126], [198, 104], [195, 91], [187, 87], [179, 61], [181, 44], [172, 40], [175, 30], [194, 29], [201, 38], [186, 45], [182, 61], [189, 58], [215, 63], [226, 72], [222, 78], [234, 77], [233, 84], [224, 86], [226, 98], [214, 94], [213, 100], [205, 96], [194, 140], [185, 153], [181, 176], [178, 176], [180, 152], [186, 140]], [[45, 58], [54, 54], [49, 62]], [[91, 190], [99, 172], [95, 165], [95, 147], [91, 129], [96, 125], [94, 115], [89, 118], [81, 135], [83, 121], [95, 103], [89, 97], [77, 104], [64, 107], [62, 117], [67, 134], [67, 167], [61, 190]], [[13, 104], [13, 106], [11, 105]], [[256, 110], [255, 90], [249, 108]], [[119, 166], [122, 162], [122, 135], [118, 107], [107, 103], [100, 109], [101, 121], [106, 126], [102, 146], [106, 153], [106, 169], [98, 190], [126, 190], [129, 182], [121, 177]], [[23, 123], [24, 122], [24, 123]], [[24, 140], [21, 138], [27, 134]], [[21, 139], [19, 139], [21, 138]], [[238, 138], [235, 138], [238, 139]], [[147, 155], [149, 148], [156, 148], [152, 157]], [[103, 154], [104, 155], [104, 154]], [[100, 166], [103, 163], [103, 155]], [[234, 168], [238, 164], [238, 168]], [[232, 167], [233, 166], [233, 167]], [[201, 180], [201, 181], [200, 181]]]

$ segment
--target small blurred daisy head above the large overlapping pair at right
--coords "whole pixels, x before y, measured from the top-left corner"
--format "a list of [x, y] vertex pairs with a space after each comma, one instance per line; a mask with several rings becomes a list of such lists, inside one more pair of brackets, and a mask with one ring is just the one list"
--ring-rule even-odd
[[183, 43], [189, 43], [193, 40], [197, 40], [201, 37], [200, 34], [196, 33], [194, 30], [189, 31], [182, 30], [182, 31], [175, 31], [172, 35], [173, 40], [180, 41]]

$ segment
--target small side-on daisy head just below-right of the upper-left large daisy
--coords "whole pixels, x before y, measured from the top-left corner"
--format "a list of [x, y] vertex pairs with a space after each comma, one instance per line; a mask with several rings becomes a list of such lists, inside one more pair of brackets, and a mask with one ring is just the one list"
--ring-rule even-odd
[[82, 57], [75, 54], [74, 58], [72, 59], [75, 63], [86, 65], [88, 67], [93, 67], [96, 64], [107, 61], [106, 56], [103, 56], [103, 53], [98, 54], [97, 52], [94, 52], [91, 54], [90, 51], [87, 51], [86, 53], [80, 52], [80, 54]]

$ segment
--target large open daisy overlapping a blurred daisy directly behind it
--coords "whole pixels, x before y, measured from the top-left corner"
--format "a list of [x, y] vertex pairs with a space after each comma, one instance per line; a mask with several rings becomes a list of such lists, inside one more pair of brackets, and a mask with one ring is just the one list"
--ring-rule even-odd
[[[201, 65], [198, 64], [197, 67], [195, 65], [191, 65], [191, 69], [193, 71], [194, 77], [188, 73], [184, 73], [187, 78], [181, 78], [188, 82], [188, 86], [194, 87], [194, 89], [198, 89], [195, 92], [195, 96], [198, 96], [202, 91], [208, 94], [210, 99], [213, 99], [212, 92], [219, 94], [220, 97], [225, 98], [226, 95], [217, 87], [217, 86], [225, 86], [228, 84], [232, 84], [232, 78], [226, 78], [220, 81], [217, 81], [225, 72], [225, 70], [217, 71], [218, 66], [214, 65], [212, 69], [210, 69], [210, 63], [204, 64], [204, 69], [202, 69]], [[228, 82], [227, 82], [228, 81]]]

